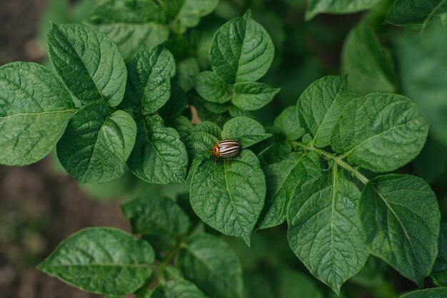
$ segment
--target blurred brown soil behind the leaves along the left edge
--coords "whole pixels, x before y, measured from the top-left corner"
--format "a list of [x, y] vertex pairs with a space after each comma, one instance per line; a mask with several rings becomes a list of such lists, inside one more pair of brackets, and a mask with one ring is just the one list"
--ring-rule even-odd
[[[44, 0], [0, 0], [0, 65], [39, 61], [36, 41]], [[86, 298], [34, 269], [61, 240], [83, 227], [129, 229], [116, 201], [95, 202], [50, 159], [27, 167], [0, 166], [0, 297]]]

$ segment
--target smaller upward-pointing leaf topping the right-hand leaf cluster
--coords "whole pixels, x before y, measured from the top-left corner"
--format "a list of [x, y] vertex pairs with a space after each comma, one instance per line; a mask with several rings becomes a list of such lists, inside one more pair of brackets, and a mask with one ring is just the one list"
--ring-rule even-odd
[[324, 76], [314, 81], [296, 103], [298, 122], [313, 136], [312, 145], [328, 146], [341, 112], [356, 97], [346, 76]]

